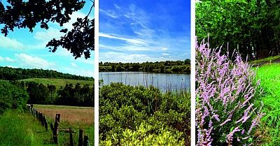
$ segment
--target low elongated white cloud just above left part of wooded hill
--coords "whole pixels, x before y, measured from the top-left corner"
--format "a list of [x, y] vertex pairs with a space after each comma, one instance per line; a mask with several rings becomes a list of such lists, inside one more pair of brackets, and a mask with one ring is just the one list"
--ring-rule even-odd
[[55, 66], [55, 62], [49, 62], [39, 57], [31, 57], [27, 54], [15, 54], [17, 59], [20, 59], [20, 66], [27, 68], [43, 68], [48, 69], [50, 66]]

